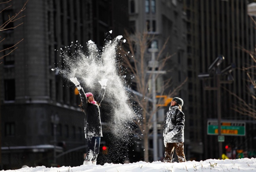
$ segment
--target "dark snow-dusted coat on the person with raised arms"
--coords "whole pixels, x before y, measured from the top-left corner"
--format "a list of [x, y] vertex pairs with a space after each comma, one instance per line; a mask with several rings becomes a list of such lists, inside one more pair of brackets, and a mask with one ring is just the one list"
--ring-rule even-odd
[[[78, 89], [81, 101], [82, 109], [85, 114], [84, 118], [84, 133], [85, 138], [91, 138], [93, 136], [102, 137], [102, 127], [100, 121], [100, 109], [97, 104], [92, 104], [87, 101], [83, 88]], [[99, 96], [95, 99], [98, 103], [101, 103], [104, 98], [105, 89], [100, 90]]]

